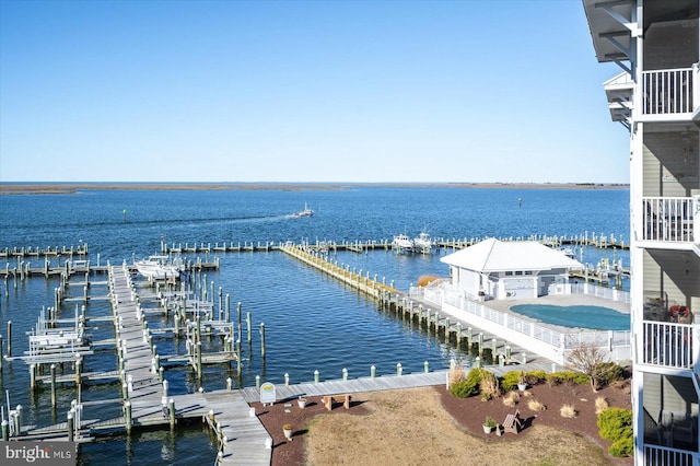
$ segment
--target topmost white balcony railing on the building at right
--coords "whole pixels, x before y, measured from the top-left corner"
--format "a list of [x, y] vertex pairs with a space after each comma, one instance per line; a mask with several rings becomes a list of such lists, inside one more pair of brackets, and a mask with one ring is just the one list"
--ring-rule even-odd
[[691, 114], [697, 67], [642, 72], [644, 115]]

